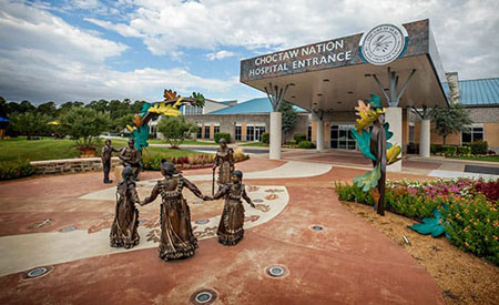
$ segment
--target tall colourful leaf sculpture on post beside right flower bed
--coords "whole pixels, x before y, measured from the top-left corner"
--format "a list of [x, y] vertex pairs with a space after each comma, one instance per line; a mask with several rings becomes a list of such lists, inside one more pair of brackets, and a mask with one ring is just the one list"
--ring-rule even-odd
[[352, 133], [364, 156], [371, 160], [374, 169], [354, 177], [354, 183], [364, 192], [370, 192], [375, 210], [378, 214], [385, 215], [386, 165], [401, 160], [398, 157], [401, 149], [387, 142], [394, 133], [388, 130], [389, 124], [385, 123], [385, 109], [381, 108], [379, 96], [370, 94], [367, 105], [359, 100], [355, 110], [360, 119], [357, 119]]

